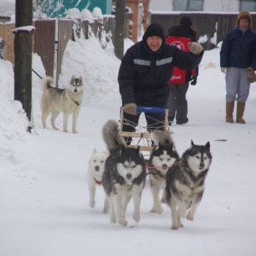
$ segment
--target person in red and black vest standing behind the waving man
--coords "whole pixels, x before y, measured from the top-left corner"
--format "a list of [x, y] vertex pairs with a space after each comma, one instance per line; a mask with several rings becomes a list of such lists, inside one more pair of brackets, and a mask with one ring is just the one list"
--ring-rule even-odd
[[[171, 26], [166, 36], [166, 43], [176, 45], [178, 48], [189, 51], [188, 42], [197, 42], [196, 33], [191, 28], [192, 20], [188, 16], [183, 16], [178, 26]], [[180, 70], [173, 68], [172, 78], [169, 80], [169, 96], [167, 108], [169, 109], [168, 121], [172, 125], [176, 118], [177, 125], [188, 123], [188, 101], [186, 93], [191, 85], [197, 82], [198, 67], [193, 70]]]

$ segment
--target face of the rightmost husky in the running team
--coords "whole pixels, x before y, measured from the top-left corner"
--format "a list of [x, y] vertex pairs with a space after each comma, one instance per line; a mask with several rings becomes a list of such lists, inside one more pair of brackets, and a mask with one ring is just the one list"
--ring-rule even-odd
[[195, 174], [200, 174], [209, 169], [212, 162], [210, 143], [207, 143], [205, 146], [199, 146], [191, 141], [191, 148], [187, 155], [187, 161], [189, 168], [192, 172], [195, 172]]

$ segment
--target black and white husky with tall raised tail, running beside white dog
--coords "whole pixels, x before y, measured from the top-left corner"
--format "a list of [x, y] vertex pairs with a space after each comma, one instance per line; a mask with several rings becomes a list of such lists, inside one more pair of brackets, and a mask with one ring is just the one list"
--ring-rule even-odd
[[102, 185], [108, 196], [110, 222], [127, 225], [126, 207], [133, 198], [133, 219], [140, 220], [140, 205], [146, 179], [143, 155], [139, 148], [126, 148], [119, 137], [119, 124], [110, 119], [102, 127], [102, 137], [110, 152], [103, 172]]

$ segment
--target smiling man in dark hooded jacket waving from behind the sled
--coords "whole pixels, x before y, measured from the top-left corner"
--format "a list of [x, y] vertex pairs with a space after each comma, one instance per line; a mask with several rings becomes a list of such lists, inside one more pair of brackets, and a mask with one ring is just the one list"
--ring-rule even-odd
[[[118, 82], [124, 108], [123, 131], [135, 131], [139, 107], [166, 108], [168, 80], [172, 68], [192, 69], [199, 65], [203, 55], [201, 44], [190, 43], [190, 52], [166, 44], [163, 28], [153, 23], [144, 32], [143, 40], [127, 49], [122, 58]], [[147, 129], [164, 130], [165, 113], [147, 113]]]

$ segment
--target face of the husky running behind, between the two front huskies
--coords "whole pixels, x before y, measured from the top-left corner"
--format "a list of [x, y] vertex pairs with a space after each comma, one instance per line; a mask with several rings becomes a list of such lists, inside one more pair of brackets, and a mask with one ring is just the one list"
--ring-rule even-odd
[[176, 160], [178, 160], [178, 155], [172, 146], [159, 145], [154, 149], [149, 161], [158, 171], [167, 172]]

